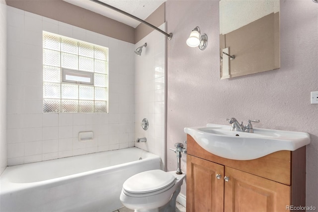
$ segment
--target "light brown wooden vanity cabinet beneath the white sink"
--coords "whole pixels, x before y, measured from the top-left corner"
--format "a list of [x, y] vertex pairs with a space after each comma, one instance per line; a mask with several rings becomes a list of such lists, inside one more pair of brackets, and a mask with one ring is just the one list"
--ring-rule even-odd
[[306, 147], [231, 160], [187, 135], [187, 212], [286, 212], [305, 206]]

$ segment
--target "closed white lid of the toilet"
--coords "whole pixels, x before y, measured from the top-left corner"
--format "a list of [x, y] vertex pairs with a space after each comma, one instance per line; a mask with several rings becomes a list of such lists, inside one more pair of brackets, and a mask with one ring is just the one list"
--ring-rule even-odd
[[162, 170], [150, 170], [128, 178], [123, 189], [129, 193], [150, 193], [175, 183], [175, 177]]

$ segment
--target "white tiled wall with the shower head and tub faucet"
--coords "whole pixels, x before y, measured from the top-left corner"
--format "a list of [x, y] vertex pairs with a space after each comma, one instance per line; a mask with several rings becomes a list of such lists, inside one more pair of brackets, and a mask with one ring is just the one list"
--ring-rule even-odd
[[[160, 29], [165, 29], [165, 23]], [[135, 54], [135, 140], [147, 137], [146, 143], [136, 143], [139, 148], [153, 152], [164, 161], [164, 92], [165, 92], [165, 45], [166, 37], [153, 31], [135, 45], [135, 49], [147, 42], [142, 55]], [[143, 118], [149, 121], [147, 131], [140, 123]]]

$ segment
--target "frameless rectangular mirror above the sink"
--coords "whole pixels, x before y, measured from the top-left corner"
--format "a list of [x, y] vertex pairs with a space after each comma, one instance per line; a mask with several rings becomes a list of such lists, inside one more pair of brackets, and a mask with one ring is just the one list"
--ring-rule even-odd
[[221, 79], [280, 68], [279, 0], [220, 0]]

